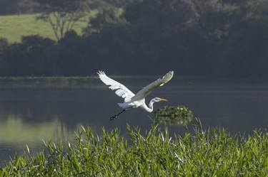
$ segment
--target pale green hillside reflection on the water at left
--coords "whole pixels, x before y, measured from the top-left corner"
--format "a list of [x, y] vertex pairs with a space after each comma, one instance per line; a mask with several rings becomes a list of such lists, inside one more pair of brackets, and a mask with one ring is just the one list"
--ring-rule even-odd
[[49, 122], [26, 122], [21, 115], [9, 114], [0, 120], [0, 144], [31, 146], [40, 144], [41, 139], [66, 141], [73, 136], [73, 132], [56, 117]]

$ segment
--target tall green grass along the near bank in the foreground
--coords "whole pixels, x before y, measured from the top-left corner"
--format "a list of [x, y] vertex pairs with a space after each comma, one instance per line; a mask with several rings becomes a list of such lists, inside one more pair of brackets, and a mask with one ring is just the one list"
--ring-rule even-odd
[[74, 143], [45, 143], [44, 152], [26, 152], [0, 176], [268, 176], [267, 132], [244, 137], [195, 128], [171, 137], [167, 129], [142, 135], [128, 127], [124, 138], [118, 129], [98, 136], [82, 128]]

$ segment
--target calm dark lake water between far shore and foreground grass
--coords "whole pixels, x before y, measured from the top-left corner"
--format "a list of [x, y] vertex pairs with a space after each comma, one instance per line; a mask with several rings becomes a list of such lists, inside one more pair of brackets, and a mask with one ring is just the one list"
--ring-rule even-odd
[[[157, 77], [119, 77], [116, 80], [137, 92]], [[14, 154], [21, 154], [26, 144], [31, 152], [42, 148], [42, 139], [71, 141], [80, 125], [94, 132], [101, 127], [119, 127], [126, 134], [126, 124], [151, 127], [150, 114], [132, 109], [119, 119], [109, 117], [121, 111], [122, 102], [101, 81], [89, 87], [61, 89], [1, 89], [0, 90], [0, 165]], [[149, 95], [167, 98], [169, 102], [156, 103], [154, 108], [185, 105], [199, 117], [204, 127], [224, 127], [228, 132], [251, 134], [254, 129], [266, 129], [268, 124], [268, 82], [254, 80], [202, 79], [174, 77], [167, 85]], [[151, 115], [152, 116], [152, 115]], [[171, 127], [176, 133], [182, 127]]]

